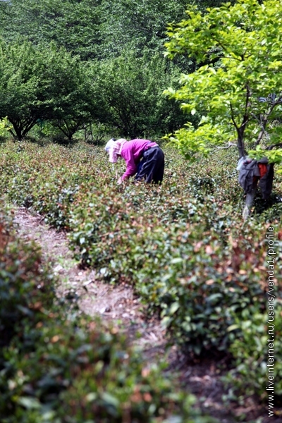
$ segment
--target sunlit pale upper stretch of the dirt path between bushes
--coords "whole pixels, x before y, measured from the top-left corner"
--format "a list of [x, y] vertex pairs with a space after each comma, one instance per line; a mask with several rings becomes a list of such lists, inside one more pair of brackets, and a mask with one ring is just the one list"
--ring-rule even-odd
[[133, 343], [142, 347], [148, 358], [157, 352], [164, 354], [165, 333], [157, 319], [146, 319], [132, 287], [102, 283], [95, 280], [93, 270], [80, 269], [68, 248], [66, 235], [49, 228], [39, 214], [30, 214], [20, 207], [16, 210], [15, 221], [20, 237], [35, 240], [42, 249], [44, 260], [51, 263], [54, 275], [59, 278], [57, 292], [60, 296], [77, 295], [83, 312], [93, 317], [99, 315], [103, 322], [118, 324]]

